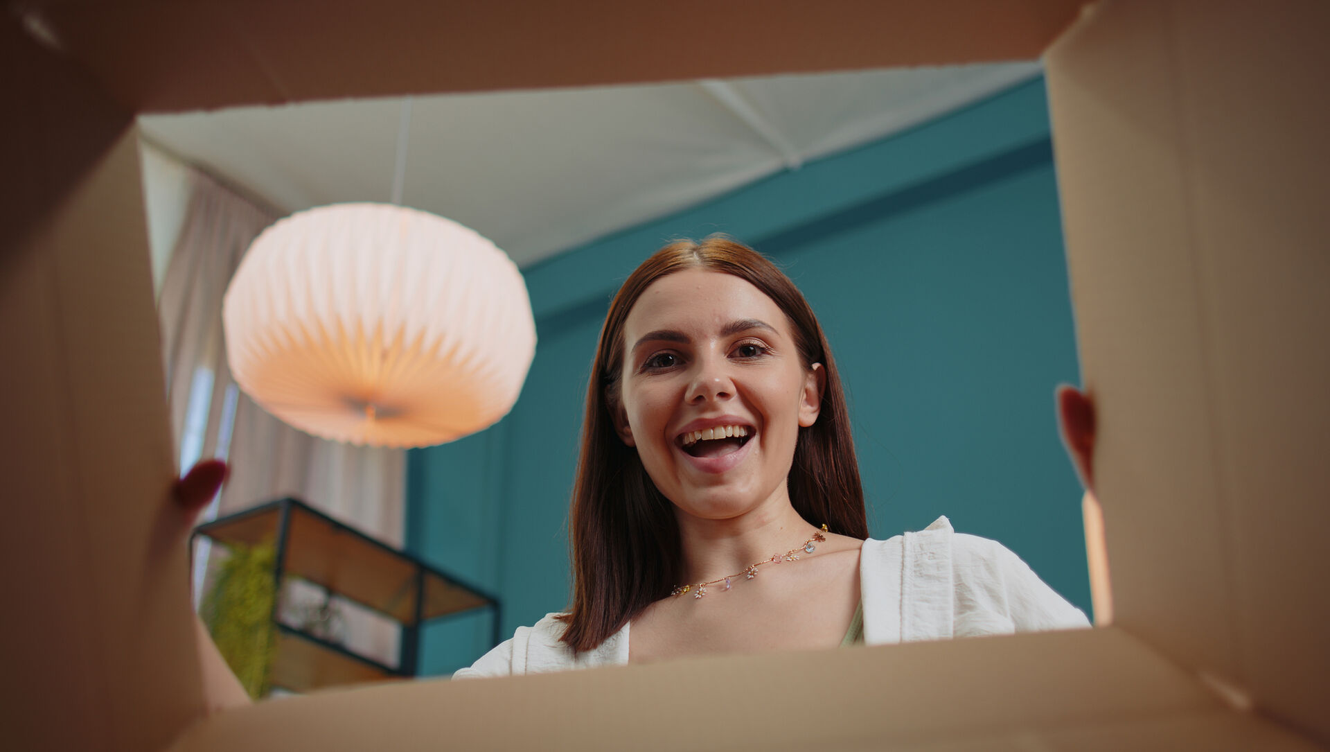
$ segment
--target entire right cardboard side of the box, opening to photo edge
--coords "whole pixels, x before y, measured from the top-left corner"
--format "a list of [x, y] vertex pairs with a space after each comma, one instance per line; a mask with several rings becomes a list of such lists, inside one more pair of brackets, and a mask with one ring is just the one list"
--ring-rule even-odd
[[1045, 57], [1116, 620], [1322, 739], [1327, 36], [1104, 3]]

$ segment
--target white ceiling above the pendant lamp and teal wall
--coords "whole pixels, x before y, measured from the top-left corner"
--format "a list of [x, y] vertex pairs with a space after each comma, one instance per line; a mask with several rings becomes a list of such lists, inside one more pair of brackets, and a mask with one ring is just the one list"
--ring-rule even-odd
[[[1037, 63], [415, 97], [403, 204], [520, 266], [983, 98]], [[283, 212], [390, 201], [403, 100], [140, 118]]]

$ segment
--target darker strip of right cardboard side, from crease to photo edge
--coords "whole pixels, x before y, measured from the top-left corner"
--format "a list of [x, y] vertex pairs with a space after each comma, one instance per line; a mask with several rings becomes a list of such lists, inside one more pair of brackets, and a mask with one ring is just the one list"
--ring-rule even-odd
[[1241, 683], [1330, 739], [1330, 4], [1293, 5], [1178, 24], [1178, 76]]

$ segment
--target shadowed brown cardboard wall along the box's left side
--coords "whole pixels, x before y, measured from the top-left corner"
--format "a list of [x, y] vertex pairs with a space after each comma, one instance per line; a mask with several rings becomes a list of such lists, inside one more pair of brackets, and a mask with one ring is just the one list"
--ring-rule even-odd
[[[202, 709], [130, 112], [0, 23], [5, 745], [161, 748]], [[21, 114], [21, 117], [19, 116]]]

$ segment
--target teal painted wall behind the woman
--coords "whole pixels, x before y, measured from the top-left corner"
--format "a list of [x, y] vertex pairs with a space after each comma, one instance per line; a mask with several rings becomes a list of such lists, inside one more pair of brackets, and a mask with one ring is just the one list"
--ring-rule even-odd
[[[499, 594], [511, 635], [568, 598], [567, 507], [596, 335], [632, 269], [725, 232], [774, 258], [841, 366], [875, 538], [946, 514], [1089, 611], [1053, 387], [1079, 382], [1044, 84], [819, 160], [524, 270], [540, 343], [493, 429], [408, 457], [408, 546]], [[488, 616], [431, 626], [427, 673]]]

